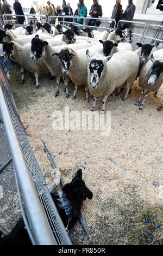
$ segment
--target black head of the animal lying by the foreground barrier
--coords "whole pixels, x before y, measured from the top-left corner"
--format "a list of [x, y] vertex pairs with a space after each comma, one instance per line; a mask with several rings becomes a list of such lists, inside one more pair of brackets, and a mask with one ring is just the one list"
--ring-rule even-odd
[[66, 184], [62, 191], [66, 194], [66, 198], [73, 203], [76, 210], [79, 211], [83, 200], [92, 199], [92, 192], [85, 186], [82, 180], [82, 169], [79, 169], [74, 175], [72, 181]]

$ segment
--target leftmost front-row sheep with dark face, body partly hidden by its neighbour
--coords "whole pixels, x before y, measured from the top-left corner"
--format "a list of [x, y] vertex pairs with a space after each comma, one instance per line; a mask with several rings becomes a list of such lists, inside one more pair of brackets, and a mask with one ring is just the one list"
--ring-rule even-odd
[[30, 59], [30, 47], [31, 44], [28, 43], [24, 46], [17, 44], [15, 41], [11, 41], [10, 43], [4, 42], [3, 43], [3, 56], [9, 56], [11, 58], [16, 59], [16, 61], [21, 65], [21, 74], [22, 74], [22, 81], [21, 83], [24, 84], [24, 69], [28, 70], [29, 72], [34, 73], [36, 86], [35, 88], [39, 87], [39, 80], [38, 76], [39, 73], [45, 70], [48, 70], [45, 62], [43, 59], [38, 59], [37, 61], [33, 62]]

